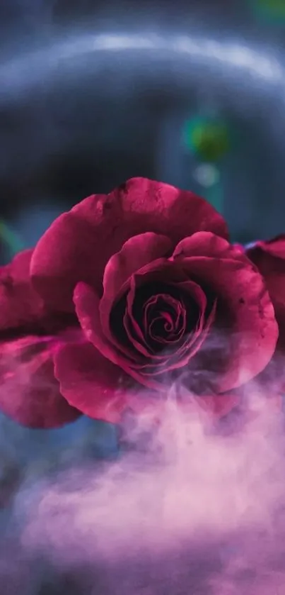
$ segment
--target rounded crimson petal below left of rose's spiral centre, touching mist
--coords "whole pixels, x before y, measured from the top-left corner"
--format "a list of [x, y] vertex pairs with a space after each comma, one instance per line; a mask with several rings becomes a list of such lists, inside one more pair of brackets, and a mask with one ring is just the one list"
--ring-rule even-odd
[[71, 406], [94, 419], [118, 423], [131, 399], [129, 377], [91, 343], [69, 343], [54, 357], [60, 390]]

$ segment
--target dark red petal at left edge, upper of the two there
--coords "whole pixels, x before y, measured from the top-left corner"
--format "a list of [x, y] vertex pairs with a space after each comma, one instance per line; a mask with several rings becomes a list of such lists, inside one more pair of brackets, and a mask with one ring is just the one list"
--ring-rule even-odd
[[0, 268], [0, 330], [30, 327], [45, 316], [42, 298], [30, 283], [33, 250], [19, 252]]

